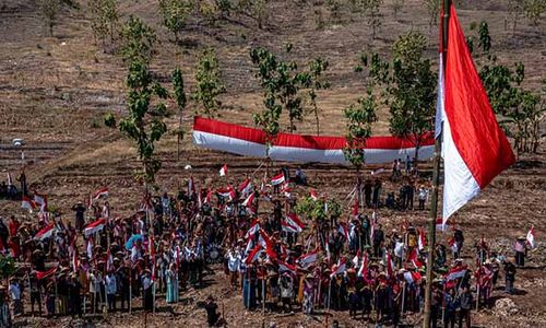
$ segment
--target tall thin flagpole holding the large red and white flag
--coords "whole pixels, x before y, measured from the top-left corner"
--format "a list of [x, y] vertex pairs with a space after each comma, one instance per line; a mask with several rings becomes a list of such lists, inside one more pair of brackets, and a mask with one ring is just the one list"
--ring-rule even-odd
[[[446, 72], [446, 56], [448, 49], [448, 26], [451, 11], [451, 0], [443, 0], [442, 16], [442, 72]], [[446, 77], [446, 74], [443, 74]], [[440, 161], [441, 161], [441, 140], [442, 133], [436, 138], [435, 142], [435, 162], [432, 172], [432, 195], [430, 202], [430, 219], [428, 222], [428, 256], [427, 256], [427, 279], [425, 289], [425, 314], [423, 317], [423, 327], [430, 328], [431, 298], [432, 298], [432, 273], [436, 246], [436, 218], [438, 213], [438, 186], [440, 185]]]

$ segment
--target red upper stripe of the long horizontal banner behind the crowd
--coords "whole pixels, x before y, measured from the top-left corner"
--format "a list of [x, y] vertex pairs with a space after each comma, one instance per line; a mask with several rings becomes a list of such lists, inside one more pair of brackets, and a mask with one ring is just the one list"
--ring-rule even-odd
[[[247, 128], [238, 125], [227, 124], [213, 119], [195, 117], [193, 119], [193, 130], [219, 134], [224, 137], [246, 140], [249, 142], [265, 143], [265, 133], [259, 129]], [[435, 143], [434, 134], [424, 136], [424, 142], [420, 147], [432, 145]], [[278, 133], [273, 141], [275, 147], [293, 147], [318, 150], [340, 150], [346, 147], [344, 137], [318, 137], [292, 133]], [[414, 148], [412, 139], [400, 139], [395, 137], [372, 137], [366, 140], [366, 149], [404, 149]]]

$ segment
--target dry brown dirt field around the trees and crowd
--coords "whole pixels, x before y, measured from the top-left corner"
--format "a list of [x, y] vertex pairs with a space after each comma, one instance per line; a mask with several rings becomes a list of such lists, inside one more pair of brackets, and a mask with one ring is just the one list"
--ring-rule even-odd
[[[75, 200], [83, 200], [100, 186], [109, 186], [112, 211], [120, 215], [136, 208], [141, 187], [132, 179], [132, 172], [139, 166], [134, 149], [117, 131], [103, 125], [104, 114], [115, 112], [123, 115], [126, 69], [119, 57], [104, 54], [94, 45], [90, 21], [82, 10], [64, 10], [54, 30], [54, 37], [47, 36], [39, 11], [33, 0], [0, 0], [0, 172], [15, 175], [20, 168], [19, 151], [11, 148], [13, 138], [26, 141], [25, 159], [27, 178], [32, 187], [49, 195], [50, 203], [71, 219], [68, 210]], [[161, 25], [157, 1], [120, 1], [122, 20], [129, 14], [142, 16], [158, 33], [161, 45], [153, 62], [154, 71], [167, 77], [175, 66], [181, 66], [187, 90], [193, 91], [194, 63], [197, 55], [205, 46], [216, 49], [227, 93], [222, 96], [224, 108], [221, 119], [252, 125], [251, 113], [262, 106], [261, 90], [253, 78], [249, 49], [265, 46], [278, 52], [285, 43], [293, 43], [293, 59], [301, 65], [313, 57], [330, 61], [328, 78], [332, 87], [319, 93], [321, 130], [324, 134], [340, 134], [344, 129], [342, 109], [364, 93], [361, 75], [354, 72], [360, 52], [378, 51], [388, 55], [396, 37], [410, 30], [418, 30], [430, 36], [427, 56], [437, 58], [438, 27], [429, 28], [428, 17], [422, 1], [406, 0], [402, 11], [394, 19], [391, 1], [385, 0], [381, 10], [383, 16], [379, 37], [371, 40], [371, 31], [364, 17], [342, 10], [341, 22], [327, 24], [318, 30], [314, 10], [328, 20], [325, 1], [294, 0], [271, 1], [271, 13], [264, 30], [258, 30], [252, 19], [230, 16], [216, 26], [207, 26], [198, 19], [190, 19], [182, 34], [182, 43], [175, 45], [171, 35]], [[512, 36], [511, 28], [505, 28], [508, 16], [506, 1], [458, 1], [459, 16], [466, 32], [471, 22], [486, 20], [492, 37], [492, 49], [501, 62], [525, 63], [524, 85], [537, 90], [541, 79], [546, 77], [545, 20], [542, 25], [532, 26], [522, 19]], [[161, 190], [173, 192], [186, 184], [189, 174], [198, 185], [211, 185], [211, 176], [224, 164], [230, 165], [230, 178], [251, 174], [260, 162], [222, 153], [197, 149], [191, 144], [191, 117], [199, 108], [190, 103], [185, 115], [188, 131], [183, 141], [180, 161], [176, 159], [176, 138], [170, 133], [159, 144], [163, 168], [159, 172]], [[380, 122], [375, 133], [388, 133], [388, 110], [380, 109]], [[298, 125], [298, 131], [313, 133], [312, 117]], [[169, 120], [175, 126], [176, 119]], [[482, 234], [500, 248], [508, 249], [514, 237], [525, 234], [535, 226], [538, 241], [546, 235], [542, 225], [546, 218], [546, 156], [544, 148], [534, 156], [522, 157], [512, 168], [497, 177], [485, 192], [465, 207], [456, 216], [468, 241]], [[183, 167], [190, 164], [191, 172]], [[280, 165], [278, 163], [275, 165]], [[295, 167], [295, 166], [292, 166]], [[342, 166], [304, 166], [311, 184], [320, 192], [344, 198], [353, 187], [354, 173]], [[425, 173], [427, 174], [427, 173]], [[263, 171], [257, 173], [263, 175]], [[387, 189], [395, 189], [392, 184]], [[298, 190], [297, 192], [307, 192]], [[15, 213], [26, 215], [19, 203], [0, 201], [0, 215]], [[381, 213], [387, 229], [400, 226], [402, 218], [419, 224], [426, 220], [425, 212]], [[439, 236], [446, 242], [447, 236]], [[531, 255], [530, 266], [520, 270], [515, 288], [520, 291], [510, 296], [518, 309], [503, 315], [499, 311], [482, 311], [475, 316], [479, 327], [546, 327], [546, 281], [545, 244]], [[470, 246], [470, 243], [468, 243]], [[470, 247], [466, 256], [471, 256]], [[277, 323], [280, 327], [324, 326], [324, 315], [306, 317], [249, 313], [242, 307], [240, 293], [232, 291], [221, 270], [206, 277], [206, 289], [189, 291], [182, 296], [183, 304], [167, 307], [158, 301], [159, 313], [147, 317], [138, 311], [135, 315], [110, 314], [107, 319], [90, 318], [93, 325], [117, 327], [164, 327], [188, 325], [201, 327], [205, 313], [197, 307], [197, 301], [213, 294], [224, 304], [229, 326], [260, 327], [262, 323]], [[496, 298], [506, 297], [501, 290]], [[333, 314], [346, 327], [364, 324], [348, 320], [346, 313]], [[329, 318], [331, 323], [333, 318]], [[415, 323], [416, 318], [407, 318]], [[70, 327], [83, 323], [58, 320], [20, 320], [23, 326]]]

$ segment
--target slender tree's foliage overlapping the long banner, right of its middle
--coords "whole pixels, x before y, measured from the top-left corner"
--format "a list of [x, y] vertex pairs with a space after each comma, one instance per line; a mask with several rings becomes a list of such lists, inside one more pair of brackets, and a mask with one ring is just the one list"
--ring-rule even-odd
[[360, 97], [356, 105], [353, 104], [343, 110], [347, 119], [347, 144], [343, 153], [357, 171], [365, 164], [366, 140], [371, 137], [371, 126], [378, 120], [376, 109], [376, 98], [368, 89], [365, 98]]

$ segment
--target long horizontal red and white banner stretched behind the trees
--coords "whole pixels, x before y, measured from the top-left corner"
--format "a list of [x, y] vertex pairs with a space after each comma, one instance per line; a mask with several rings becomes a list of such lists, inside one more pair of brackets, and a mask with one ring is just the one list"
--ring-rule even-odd
[[[233, 154], [265, 157], [265, 133], [262, 130], [195, 117], [193, 120], [193, 143], [206, 149]], [[434, 136], [426, 139], [419, 149], [419, 160], [434, 154]], [[276, 161], [300, 163], [346, 164], [343, 149], [344, 137], [322, 137], [278, 133], [270, 148], [270, 157]], [[366, 141], [366, 163], [391, 163], [415, 156], [412, 140], [395, 137], [372, 137]]]

